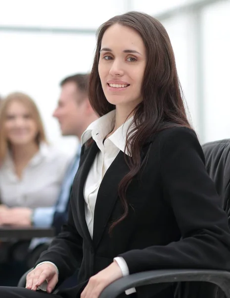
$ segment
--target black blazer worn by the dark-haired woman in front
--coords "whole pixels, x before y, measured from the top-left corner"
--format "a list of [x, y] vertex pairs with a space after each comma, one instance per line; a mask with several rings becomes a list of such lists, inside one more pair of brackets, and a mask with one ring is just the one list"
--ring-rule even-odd
[[[59, 282], [81, 264], [80, 285], [63, 290], [60, 295], [80, 297], [77, 293], [87, 280], [116, 256], [125, 259], [130, 274], [167, 268], [230, 270], [227, 216], [193, 131], [180, 127], [166, 129], [146, 142], [141, 151], [145, 165], [126, 194], [129, 214], [110, 235], [111, 223], [123, 214], [118, 184], [129, 171], [124, 153], [119, 152], [98, 191], [91, 239], [83, 189], [97, 152], [94, 142], [83, 152], [73, 184], [68, 223], [37, 262], [55, 263]], [[139, 287], [135, 296], [172, 298], [173, 286]]]

